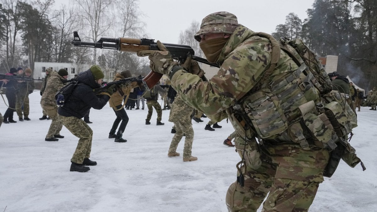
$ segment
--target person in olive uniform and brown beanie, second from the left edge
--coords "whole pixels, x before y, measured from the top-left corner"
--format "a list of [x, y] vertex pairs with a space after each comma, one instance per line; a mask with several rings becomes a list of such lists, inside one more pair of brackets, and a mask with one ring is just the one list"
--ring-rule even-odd
[[[25, 69], [25, 72], [22, 74], [18, 74], [17, 77], [30, 77], [31, 76], [31, 69]], [[34, 91], [34, 81], [23, 81], [18, 83], [18, 92], [16, 93], [16, 112], [18, 115], [18, 120], [23, 121], [30, 121], [29, 118], [29, 94]], [[23, 106], [23, 114], [22, 114], [22, 106]], [[23, 116], [23, 117], [22, 117]]]

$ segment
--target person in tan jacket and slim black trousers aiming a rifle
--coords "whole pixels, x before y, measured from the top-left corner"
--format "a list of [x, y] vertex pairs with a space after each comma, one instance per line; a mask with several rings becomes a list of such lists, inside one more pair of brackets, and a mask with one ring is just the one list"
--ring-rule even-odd
[[[129, 78], [129, 77], [131, 77], [131, 72], [129, 70], [123, 71], [121, 73], [116, 73], [113, 81], [121, 80], [124, 78]], [[122, 105], [122, 101], [123, 101], [124, 96], [127, 96], [130, 93], [131, 89], [135, 86], [137, 86], [136, 82], [124, 84], [120, 88], [122, 91], [113, 93], [109, 100], [110, 107], [113, 108], [116, 115], [113, 126], [109, 132], [109, 138], [115, 138], [114, 140], [115, 142], [127, 142], [127, 140], [122, 138], [122, 135], [123, 135], [124, 129], [126, 129], [129, 118], [126, 113], [126, 110], [124, 109]], [[118, 132], [115, 135], [116, 128], [118, 128], [120, 121], [122, 122], [118, 129]]]

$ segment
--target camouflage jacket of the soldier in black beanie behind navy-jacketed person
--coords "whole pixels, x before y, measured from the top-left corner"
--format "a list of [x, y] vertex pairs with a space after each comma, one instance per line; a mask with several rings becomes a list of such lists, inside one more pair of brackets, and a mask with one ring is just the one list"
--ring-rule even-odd
[[56, 106], [55, 94], [64, 86], [61, 80], [65, 80], [65, 78], [60, 76], [57, 71], [52, 71], [41, 97], [43, 106]]

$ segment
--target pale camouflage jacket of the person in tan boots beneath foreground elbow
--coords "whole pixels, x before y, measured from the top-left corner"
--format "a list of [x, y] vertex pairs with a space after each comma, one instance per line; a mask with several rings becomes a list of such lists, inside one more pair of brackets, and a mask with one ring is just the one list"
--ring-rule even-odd
[[174, 99], [172, 107], [170, 109], [169, 121], [175, 122], [184, 118], [188, 118], [188, 120], [190, 120], [190, 115], [192, 114], [193, 110], [194, 109], [192, 107], [182, 101], [181, 97], [177, 96]]

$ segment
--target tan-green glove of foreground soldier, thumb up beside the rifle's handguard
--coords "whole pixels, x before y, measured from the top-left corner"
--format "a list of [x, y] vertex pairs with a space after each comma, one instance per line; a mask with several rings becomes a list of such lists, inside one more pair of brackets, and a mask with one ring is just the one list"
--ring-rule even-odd
[[149, 56], [149, 68], [152, 69], [152, 71], [169, 75], [170, 69], [172, 69], [173, 66], [177, 65], [177, 62], [172, 59], [170, 52], [159, 40], [157, 41], [157, 47], [161, 51], [145, 50], [137, 52], [137, 55], [139, 57]]

